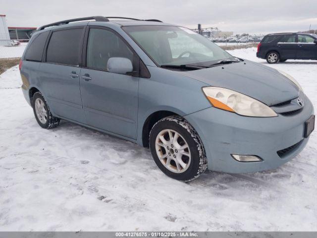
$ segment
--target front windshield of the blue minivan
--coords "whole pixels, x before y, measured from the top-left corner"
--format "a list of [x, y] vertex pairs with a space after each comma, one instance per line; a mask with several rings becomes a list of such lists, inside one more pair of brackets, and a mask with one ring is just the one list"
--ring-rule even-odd
[[176, 26], [126, 26], [132, 39], [158, 65], [210, 66], [220, 60], [236, 60], [198, 33]]

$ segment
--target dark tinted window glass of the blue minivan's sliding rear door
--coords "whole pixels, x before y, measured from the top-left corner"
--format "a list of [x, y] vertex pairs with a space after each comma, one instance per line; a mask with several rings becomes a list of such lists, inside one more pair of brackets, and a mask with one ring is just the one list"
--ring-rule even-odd
[[83, 28], [54, 31], [46, 53], [46, 61], [78, 66]]

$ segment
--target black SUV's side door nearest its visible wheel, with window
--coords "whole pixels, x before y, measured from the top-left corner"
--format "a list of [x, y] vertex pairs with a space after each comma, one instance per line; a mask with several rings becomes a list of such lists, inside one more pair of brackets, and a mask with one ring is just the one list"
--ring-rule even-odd
[[280, 59], [296, 59], [296, 35], [287, 34], [281, 37], [277, 43], [277, 47], [280, 52]]

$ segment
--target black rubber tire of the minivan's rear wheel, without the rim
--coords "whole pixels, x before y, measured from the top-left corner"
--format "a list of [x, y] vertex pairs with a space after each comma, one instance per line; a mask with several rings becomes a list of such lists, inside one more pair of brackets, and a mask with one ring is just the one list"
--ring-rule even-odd
[[[44, 113], [45, 115], [45, 118], [46, 118], [46, 122], [43, 123], [41, 122], [41, 119], [39, 119], [37, 113], [36, 113], [36, 109], [35, 109], [35, 102], [37, 99], [40, 99], [43, 103], [44, 103], [44, 108], [46, 110], [46, 113]], [[35, 119], [36, 121], [39, 123], [39, 125], [42, 127], [42, 128], [45, 128], [45, 129], [52, 129], [52, 128], [55, 128], [56, 126], [59, 125], [59, 121], [60, 119], [59, 118], [56, 118], [52, 115], [51, 111], [50, 111], [50, 108], [45, 100], [45, 98], [42, 96], [42, 93], [40, 92], [36, 92], [33, 97], [32, 97], [32, 108], [33, 108], [33, 112], [34, 112], [34, 116], [35, 116]]]

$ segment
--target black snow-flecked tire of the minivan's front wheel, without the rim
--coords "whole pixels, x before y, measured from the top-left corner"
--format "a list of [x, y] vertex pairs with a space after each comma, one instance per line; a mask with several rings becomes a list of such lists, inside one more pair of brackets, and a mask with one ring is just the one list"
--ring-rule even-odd
[[[156, 139], [158, 134], [166, 129], [176, 131], [179, 135], [181, 135], [184, 138], [184, 140], [188, 144], [191, 159], [190, 162], [187, 163], [189, 164], [187, 169], [182, 173], [174, 173], [168, 170], [159, 160], [159, 156], [156, 151]], [[190, 181], [198, 178], [207, 169], [205, 149], [199, 135], [187, 120], [179, 116], [170, 116], [160, 119], [151, 129], [149, 142], [150, 150], [155, 163], [165, 175], [173, 179], [181, 181]], [[167, 154], [167, 152], [165, 153]]]

